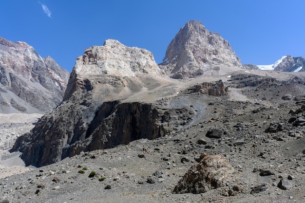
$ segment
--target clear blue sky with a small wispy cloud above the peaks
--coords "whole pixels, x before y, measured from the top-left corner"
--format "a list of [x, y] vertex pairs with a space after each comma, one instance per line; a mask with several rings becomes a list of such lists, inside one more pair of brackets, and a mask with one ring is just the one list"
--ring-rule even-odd
[[166, 48], [189, 20], [227, 39], [242, 63], [305, 57], [305, 0], [0, 0], [0, 36], [25, 41], [72, 71], [76, 57], [106, 39]]

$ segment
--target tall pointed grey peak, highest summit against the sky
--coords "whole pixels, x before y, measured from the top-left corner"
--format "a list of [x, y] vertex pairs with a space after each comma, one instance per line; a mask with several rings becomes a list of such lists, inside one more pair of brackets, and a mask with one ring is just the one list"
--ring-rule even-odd
[[227, 40], [191, 20], [176, 34], [159, 65], [171, 77], [183, 78], [203, 74], [218, 64], [242, 66]]

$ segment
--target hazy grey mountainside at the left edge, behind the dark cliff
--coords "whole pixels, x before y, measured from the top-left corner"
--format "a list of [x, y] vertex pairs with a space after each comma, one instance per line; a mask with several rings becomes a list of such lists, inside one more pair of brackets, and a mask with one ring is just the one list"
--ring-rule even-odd
[[51, 111], [62, 101], [68, 78], [50, 56], [0, 37], [1, 113]]

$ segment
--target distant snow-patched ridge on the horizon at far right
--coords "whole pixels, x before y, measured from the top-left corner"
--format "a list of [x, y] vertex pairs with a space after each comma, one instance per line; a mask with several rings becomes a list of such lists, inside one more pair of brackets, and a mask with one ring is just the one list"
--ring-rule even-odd
[[305, 72], [305, 59], [302, 56], [293, 57], [291, 55], [284, 55], [271, 65], [244, 64], [243, 67], [263, 71]]

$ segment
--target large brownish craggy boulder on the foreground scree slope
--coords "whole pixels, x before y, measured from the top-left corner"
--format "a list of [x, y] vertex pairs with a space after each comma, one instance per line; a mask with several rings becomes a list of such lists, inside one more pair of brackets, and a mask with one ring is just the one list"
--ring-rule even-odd
[[175, 186], [177, 194], [199, 194], [210, 189], [222, 187], [233, 173], [234, 168], [221, 155], [201, 155], [198, 165], [192, 165], [188, 172]]

